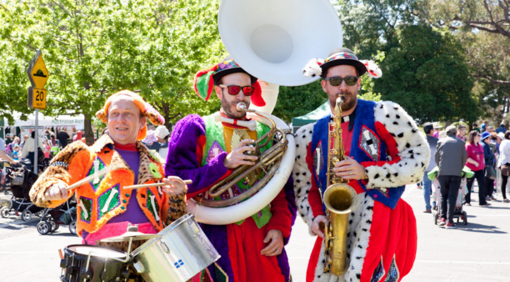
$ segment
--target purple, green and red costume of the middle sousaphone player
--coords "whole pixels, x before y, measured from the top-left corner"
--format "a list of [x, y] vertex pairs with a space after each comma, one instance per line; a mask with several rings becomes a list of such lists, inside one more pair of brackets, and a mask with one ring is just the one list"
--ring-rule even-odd
[[[215, 122], [213, 115], [201, 118], [189, 115], [175, 125], [169, 142], [166, 173], [191, 179], [188, 197], [205, 195], [216, 182], [231, 173], [223, 165], [230, 152], [232, 126]], [[268, 127], [258, 123], [256, 132], [249, 132], [255, 140], [267, 132]], [[241, 127], [239, 127], [241, 128]], [[250, 186], [235, 185], [222, 198], [237, 195]], [[292, 182], [271, 201], [270, 206], [242, 222], [228, 225], [201, 224], [221, 258], [211, 265], [207, 275], [214, 281], [289, 281], [290, 271], [285, 250], [276, 257], [266, 257], [260, 251], [266, 244], [263, 240], [270, 229], [282, 230], [287, 244], [291, 226], [295, 219], [295, 203]], [[207, 279], [206, 279], [207, 280]]]

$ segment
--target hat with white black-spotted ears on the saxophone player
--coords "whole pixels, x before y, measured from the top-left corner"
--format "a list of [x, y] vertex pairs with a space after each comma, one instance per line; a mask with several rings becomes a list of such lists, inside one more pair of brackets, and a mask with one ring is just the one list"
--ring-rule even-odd
[[378, 79], [382, 76], [381, 69], [369, 60], [358, 60], [349, 48], [335, 48], [326, 59], [314, 58], [303, 68], [303, 75], [313, 78], [320, 75], [322, 78], [326, 75], [327, 69], [338, 65], [350, 65], [358, 69], [359, 76], [367, 73], [370, 78]]

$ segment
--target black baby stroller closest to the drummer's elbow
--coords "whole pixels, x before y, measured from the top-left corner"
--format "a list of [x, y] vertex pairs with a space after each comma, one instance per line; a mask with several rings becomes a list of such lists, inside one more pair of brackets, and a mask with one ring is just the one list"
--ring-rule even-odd
[[76, 200], [74, 196], [55, 209], [44, 209], [41, 221], [37, 223], [37, 232], [42, 235], [55, 232], [60, 224], [69, 225], [69, 232], [76, 234]]

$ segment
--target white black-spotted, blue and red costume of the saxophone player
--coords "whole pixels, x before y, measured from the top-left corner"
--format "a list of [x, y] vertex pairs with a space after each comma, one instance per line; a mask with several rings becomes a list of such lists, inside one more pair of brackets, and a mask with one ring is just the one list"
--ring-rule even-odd
[[[296, 133], [296, 203], [310, 228], [315, 217], [325, 214], [321, 199], [327, 188], [329, 121], [327, 115]], [[350, 143], [346, 151], [366, 168], [368, 181], [349, 182], [358, 192], [359, 206], [349, 215], [347, 272], [340, 277], [323, 272], [324, 244], [318, 237], [307, 281], [400, 281], [413, 266], [417, 244], [416, 219], [400, 196], [404, 185], [421, 180], [428, 145], [413, 119], [394, 102], [358, 99], [343, 121], [342, 136]]]

